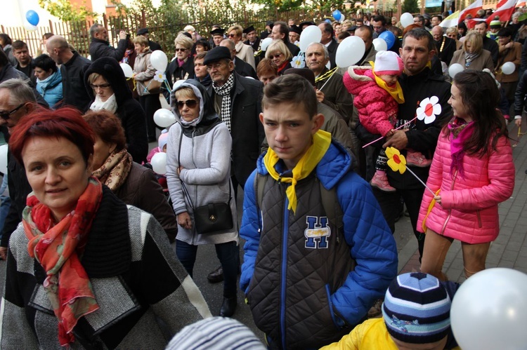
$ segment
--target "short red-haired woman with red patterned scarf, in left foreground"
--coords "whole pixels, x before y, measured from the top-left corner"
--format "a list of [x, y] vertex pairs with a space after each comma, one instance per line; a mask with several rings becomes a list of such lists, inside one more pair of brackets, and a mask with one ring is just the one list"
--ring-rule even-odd
[[158, 318], [174, 335], [211, 316], [160, 224], [91, 177], [93, 142], [70, 108], [13, 130], [33, 191], [9, 242], [1, 348], [163, 349]]

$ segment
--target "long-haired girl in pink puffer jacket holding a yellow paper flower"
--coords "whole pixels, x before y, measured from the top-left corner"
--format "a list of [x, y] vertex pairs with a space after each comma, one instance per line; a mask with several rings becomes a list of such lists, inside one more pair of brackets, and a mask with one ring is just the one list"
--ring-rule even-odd
[[498, 112], [500, 92], [490, 74], [456, 74], [448, 103], [454, 118], [443, 128], [424, 191], [417, 230], [426, 233], [421, 271], [445, 281], [441, 271], [454, 239], [461, 241], [467, 278], [485, 269], [500, 231], [497, 204], [514, 189], [512, 148]]

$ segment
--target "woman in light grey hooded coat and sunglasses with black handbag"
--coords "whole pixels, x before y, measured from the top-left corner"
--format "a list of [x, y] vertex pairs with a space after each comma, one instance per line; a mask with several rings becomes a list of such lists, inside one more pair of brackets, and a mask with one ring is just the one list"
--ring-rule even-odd
[[[171, 126], [167, 143], [167, 183], [178, 220], [176, 255], [193, 276], [197, 246], [216, 245], [223, 267], [223, 304], [219, 315], [230, 317], [236, 308], [239, 266], [238, 220], [230, 184], [229, 130], [214, 111], [214, 101], [195, 80], [171, 93], [171, 107], [178, 123]], [[194, 208], [229, 203], [233, 228], [198, 234]]]

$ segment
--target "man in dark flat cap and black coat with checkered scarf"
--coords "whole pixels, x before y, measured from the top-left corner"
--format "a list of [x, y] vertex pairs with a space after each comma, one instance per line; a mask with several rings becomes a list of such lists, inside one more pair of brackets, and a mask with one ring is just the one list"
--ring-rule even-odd
[[[225, 46], [213, 48], [203, 60], [212, 85], [207, 88], [214, 101], [214, 109], [223, 123], [226, 123], [233, 138], [232, 163], [230, 166], [234, 197], [238, 194], [238, 184], [245, 187], [247, 177], [256, 168], [260, 145], [264, 138], [260, 123], [263, 83], [245, 78], [236, 73], [230, 51]], [[211, 282], [223, 281], [223, 271], [216, 269], [207, 278]], [[232, 316], [235, 300], [224, 301], [220, 316]]]

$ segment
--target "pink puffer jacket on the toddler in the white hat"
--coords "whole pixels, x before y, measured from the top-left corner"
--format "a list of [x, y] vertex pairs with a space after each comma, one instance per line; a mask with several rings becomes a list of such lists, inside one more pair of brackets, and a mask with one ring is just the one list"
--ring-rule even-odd
[[386, 135], [393, 129], [399, 105], [377, 85], [372, 67], [351, 66], [344, 73], [344, 86], [353, 97], [360, 123], [372, 134]]

